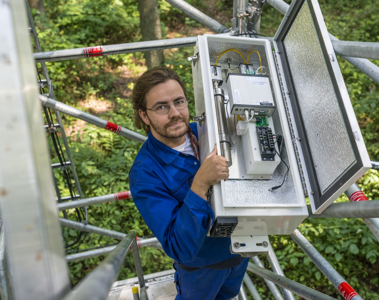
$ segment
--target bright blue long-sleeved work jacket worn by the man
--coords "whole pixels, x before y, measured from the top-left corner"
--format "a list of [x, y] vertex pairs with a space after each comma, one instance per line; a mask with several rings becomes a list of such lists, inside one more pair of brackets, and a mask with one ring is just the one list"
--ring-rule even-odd
[[[197, 137], [196, 122], [190, 127]], [[215, 214], [190, 189], [199, 167], [195, 156], [164, 145], [150, 132], [129, 173], [133, 201], [147, 226], [169, 257], [189, 267], [238, 256], [230, 253], [230, 238], [206, 236]]]

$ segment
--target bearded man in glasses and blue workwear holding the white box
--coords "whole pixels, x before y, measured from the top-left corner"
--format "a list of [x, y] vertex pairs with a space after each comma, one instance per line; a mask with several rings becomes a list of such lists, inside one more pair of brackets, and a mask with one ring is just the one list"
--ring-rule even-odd
[[200, 166], [196, 123], [189, 123], [186, 89], [177, 73], [153, 68], [133, 86], [136, 127], [149, 138], [129, 173], [139, 212], [164, 252], [175, 260], [176, 299], [226, 300], [238, 294], [248, 258], [230, 253], [230, 238], [211, 238], [211, 185], [227, 180], [217, 148]]

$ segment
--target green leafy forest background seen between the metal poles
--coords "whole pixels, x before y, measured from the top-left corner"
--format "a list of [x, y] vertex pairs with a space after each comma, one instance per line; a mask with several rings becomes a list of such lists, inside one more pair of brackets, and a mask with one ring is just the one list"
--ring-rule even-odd
[[[230, 27], [232, 0], [187, 2]], [[379, 42], [379, 1], [319, 0], [319, 3], [328, 31], [334, 36], [347, 41]], [[158, 11], [163, 39], [212, 33], [164, 0], [158, 0]], [[43, 51], [143, 40], [137, 0], [44, 0], [44, 7], [32, 9], [32, 13]], [[282, 18], [282, 14], [266, 4], [260, 33], [274, 36]], [[194, 97], [191, 64], [187, 57], [193, 55], [193, 51], [194, 47], [164, 50], [162, 63], [179, 73], [189, 100]], [[379, 85], [342, 58], [338, 57], [338, 62], [370, 157], [378, 161]], [[379, 65], [379, 61], [373, 63]], [[136, 77], [147, 70], [144, 53], [58, 61], [47, 63], [47, 67], [56, 100], [138, 131], [129, 99]], [[193, 101], [189, 109], [194, 116]], [[63, 122], [85, 197], [128, 190], [128, 171], [141, 144], [67, 115], [63, 115]], [[56, 163], [58, 160], [49, 141], [52, 162]], [[69, 195], [61, 171], [54, 171], [62, 196]], [[368, 171], [358, 183], [369, 199], [379, 198], [377, 171]], [[348, 199], [341, 195], [337, 201]], [[74, 209], [67, 213], [70, 219], [76, 220]], [[135, 229], [138, 236], [151, 235], [131, 199], [90, 206], [88, 219], [90, 224], [103, 228], [124, 233]], [[78, 231], [66, 227], [62, 230], [66, 245], [77, 239]], [[361, 219], [306, 219], [299, 230], [364, 299], [379, 300], [378, 244]], [[75, 248], [68, 247], [67, 253], [117, 243], [96, 234], [83, 237]], [[270, 240], [288, 278], [343, 299], [289, 236], [271, 236]], [[150, 247], [139, 251], [145, 274], [172, 268], [172, 259], [163, 251]], [[81, 280], [103, 258], [69, 263], [72, 283]], [[265, 256], [260, 258], [269, 267]], [[274, 299], [262, 278], [249, 274], [262, 298]], [[129, 253], [119, 280], [134, 276], [133, 257]], [[248, 297], [251, 299], [251, 295]]]

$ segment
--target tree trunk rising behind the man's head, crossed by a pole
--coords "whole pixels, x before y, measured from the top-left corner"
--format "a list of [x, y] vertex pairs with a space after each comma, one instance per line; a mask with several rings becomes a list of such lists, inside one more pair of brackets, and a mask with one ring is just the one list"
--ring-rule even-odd
[[[157, 0], [138, 0], [139, 22], [144, 41], [162, 39]], [[148, 69], [163, 63], [163, 50], [144, 53]]]

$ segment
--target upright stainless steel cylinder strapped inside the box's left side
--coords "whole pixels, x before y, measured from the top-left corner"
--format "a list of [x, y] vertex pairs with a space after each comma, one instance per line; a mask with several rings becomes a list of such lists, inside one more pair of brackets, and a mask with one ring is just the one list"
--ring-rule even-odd
[[228, 132], [224, 105], [224, 91], [218, 87], [218, 82], [213, 82], [213, 94], [215, 95], [217, 127], [220, 140], [221, 156], [226, 158], [228, 167], [232, 166], [232, 154], [230, 153], [230, 136]]

